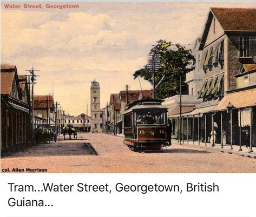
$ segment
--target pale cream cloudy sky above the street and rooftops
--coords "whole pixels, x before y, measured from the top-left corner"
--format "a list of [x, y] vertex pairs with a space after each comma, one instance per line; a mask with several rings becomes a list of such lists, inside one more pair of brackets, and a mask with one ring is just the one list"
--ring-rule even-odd
[[[43, 9], [23, 5], [42, 4]], [[47, 9], [79, 5], [78, 9]], [[21, 5], [6, 9], [6, 4]], [[90, 83], [101, 87], [101, 107], [111, 93], [139, 90], [133, 73], [147, 63], [159, 39], [192, 48], [210, 7], [256, 8], [256, 2], [2, 2], [1, 63], [37, 72], [35, 94], [52, 93], [66, 113], [90, 112]], [[151, 85], [141, 79], [142, 89]]]

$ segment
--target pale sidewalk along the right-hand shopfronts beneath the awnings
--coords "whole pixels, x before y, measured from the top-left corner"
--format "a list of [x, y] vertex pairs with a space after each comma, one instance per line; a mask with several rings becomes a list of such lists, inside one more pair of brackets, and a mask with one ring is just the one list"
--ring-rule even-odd
[[[172, 144], [179, 145], [179, 141], [176, 139], [172, 139]], [[244, 157], [249, 158], [255, 158], [256, 159], [256, 148], [253, 147], [253, 151], [251, 153], [249, 152], [249, 149], [246, 146], [242, 146], [242, 151], [239, 151], [239, 145], [233, 145], [233, 150], [231, 150], [231, 145], [225, 145], [223, 148], [221, 148], [220, 144], [215, 144], [215, 147], [212, 147], [211, 144], [206, 143], [207, 146], [205, 146], [205, 143], [198, 144], [198, 141], [194, 141], [194, 144], [192, 141], [184, 140], [184, 143], [182, 145], [188, 146], [188, 147], [200, 147], [202, 149], [206, 149], [211, 152], [222, 152], [222, 153], [229, 153], [229, 154], [237, 154]]]

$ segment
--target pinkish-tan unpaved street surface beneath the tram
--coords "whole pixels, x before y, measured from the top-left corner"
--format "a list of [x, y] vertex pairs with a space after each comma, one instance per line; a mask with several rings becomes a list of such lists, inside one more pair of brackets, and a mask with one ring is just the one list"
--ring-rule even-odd
[[[28, 147], [1, 159], [2, 169], [43, 168], [50, 173], [255, 173], [255, 159], [178, 144], [137, 153], [123, 138], [78, 133], [77, 140]], [[96, 154], [96, 155], [95, 155]]]

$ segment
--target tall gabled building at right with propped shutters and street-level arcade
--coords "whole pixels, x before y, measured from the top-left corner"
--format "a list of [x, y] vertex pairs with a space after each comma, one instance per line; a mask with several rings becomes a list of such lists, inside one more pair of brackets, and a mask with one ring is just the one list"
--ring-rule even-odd
[[252, 133], [256, 132], [255, 20], [256, 9], [210, 9], [199, 46], [205, 72], [199, 91], [203, 102], [182, 114], [185, 125], [192, 119], [192, 140], [207, 145], [216, 132], [214, 143], [240, 145], [240, 149], [246, 145], [251, 151], [256, 146]]

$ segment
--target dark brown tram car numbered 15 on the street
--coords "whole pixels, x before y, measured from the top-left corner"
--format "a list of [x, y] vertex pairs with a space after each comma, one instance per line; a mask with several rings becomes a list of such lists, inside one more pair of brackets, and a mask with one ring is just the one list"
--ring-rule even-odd
[[160, 150], [167, 146], [167, 108], [163, 100], [137, 100], [123, 113], [123, 143], [135, 151]]

